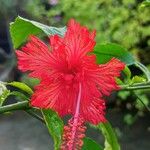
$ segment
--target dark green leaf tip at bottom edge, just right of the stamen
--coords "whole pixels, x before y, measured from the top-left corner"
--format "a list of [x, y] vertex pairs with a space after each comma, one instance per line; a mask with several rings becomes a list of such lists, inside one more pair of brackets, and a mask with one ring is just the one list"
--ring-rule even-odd
[[95, 141], [93, 141], [92, 139], [85, 137], [83, 139], [83, 146], [82, 146], [82, 150], [103, 150], [102, 146], [100, 146], [99, 144], [97, 144]]

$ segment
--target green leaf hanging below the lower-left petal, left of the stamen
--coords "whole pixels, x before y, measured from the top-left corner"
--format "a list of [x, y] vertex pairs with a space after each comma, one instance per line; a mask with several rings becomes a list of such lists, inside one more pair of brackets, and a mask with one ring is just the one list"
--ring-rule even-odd
[[53, 110], [42, 110], [44, 120], [50, 135], [54, 139], [55, 150], [60, 149], [63, 133], [63, 121]]

